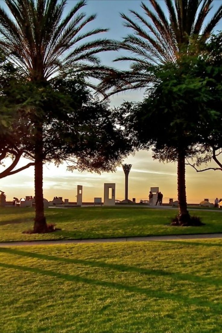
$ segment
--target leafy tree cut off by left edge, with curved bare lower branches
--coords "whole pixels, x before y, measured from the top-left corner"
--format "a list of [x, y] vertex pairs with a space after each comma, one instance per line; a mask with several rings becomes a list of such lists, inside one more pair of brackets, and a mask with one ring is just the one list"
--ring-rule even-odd
[[15, 67], [2, 57], [0, 61], [0, 164], [4, 165], [7, 157], [12, 158], [12, 163], [0, 172], [0, 179], [34, 166], [34, 163], [30, 162], [16, 169], [21, 156], [25, 153], [24, 138], [28, 130], [26, 115], [21, 112], [19, 105], [14, 103], [21, 80], [22, 76]]

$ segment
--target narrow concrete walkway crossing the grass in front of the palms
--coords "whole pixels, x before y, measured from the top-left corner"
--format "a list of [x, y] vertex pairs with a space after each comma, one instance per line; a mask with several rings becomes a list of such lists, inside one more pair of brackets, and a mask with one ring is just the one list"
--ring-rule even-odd
[[8, 242], [0, 243], [1, 246], [28, 246], [28, 245], [64, 245], [84, 243], [113, 243], [113, 242], [147, 242], [161, 240], [183, 240], [183, 239], [212, 239], [222, 238], [222, 233], [207, 233], [196, 235], [173, 235], [173, 236], [143, 236], [143, 237], [122, 237], [122, 238], [101, 238], [101, 239], [71, 239], [71, 240], [39, 240], [32, 242]]

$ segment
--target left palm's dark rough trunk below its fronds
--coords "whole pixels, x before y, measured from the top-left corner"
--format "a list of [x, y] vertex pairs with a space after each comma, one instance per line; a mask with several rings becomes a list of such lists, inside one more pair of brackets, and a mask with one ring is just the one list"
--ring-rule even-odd
[[47, 232], [43, 203], [43, 129], [42, 124], [36, 127], [35, 138], [35, 222], [34, 232]]

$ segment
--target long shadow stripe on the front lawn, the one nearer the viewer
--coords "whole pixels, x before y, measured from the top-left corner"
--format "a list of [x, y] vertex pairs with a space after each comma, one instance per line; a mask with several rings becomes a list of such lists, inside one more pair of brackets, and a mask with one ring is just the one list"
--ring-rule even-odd
[[1, 262], [0, 262], [0, 267], [16, 269], [16, 270], [21, 270], [24, 272], [35, 273], [35, 274], [42, 274], [45, 276], [51, 276], [53, 278], [64, 279], [66, 281], [73, 281], [73, 282], [77, 282], [77, 283], [86, 283], [86, 284], [99, 286], [99, 287], [102, 286], [102, 287], [113, 288], [116, 290], [121, 290], [121, 291], [126, 291], [126, 292], [145, 294], [147, 297], [150, 297], [150, 298], [168, 299], [168, 300], [176, 301], [179, 303], [182, 302], [182, 303], [185, 303], [186, 305], [196, 305], [196, 306], [201, 306], [201, 307], [206, 306], [211, 309], [213, 308], [213, 311], [215, 313], [221, 314], [222, 306], [220, 305], [220, 303], [216, 304], [216, 303], [210, 302], [208, 300], [203, 300], [201, 298], [195, 298], [195, 297], [190, 298], [185, 295], [165, 292], [163, 290], [152, 290], [152, 289], [148, 289], [148, 288], [141, 288], [138, 286], [130, 286], [130, 285], [124, 285], [124, 284], [110, 282], [110, 281], [102, 281], [102, 280], [85, 278], [85, 277], [81, 277], [79, 275], [63, 274], [63, 273], [58, 273], [58, 272], [54, 272], [51, 270], [40, 269], [37, 267], [34, 268], [34, 267], [13, 265], [13, 264], [1, 263]]

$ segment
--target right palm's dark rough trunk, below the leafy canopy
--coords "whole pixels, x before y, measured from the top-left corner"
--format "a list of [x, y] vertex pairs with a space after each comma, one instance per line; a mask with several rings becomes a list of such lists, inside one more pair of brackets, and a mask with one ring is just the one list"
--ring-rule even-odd
[[190, 220], [190, 215], [187, 210], [186, 202], [186, 180], [185, 180], [185, 154], [178, 152], [177, 162], [177, 191], [179, 202], [178, 221], [180, 224], [187, 223]]

